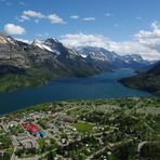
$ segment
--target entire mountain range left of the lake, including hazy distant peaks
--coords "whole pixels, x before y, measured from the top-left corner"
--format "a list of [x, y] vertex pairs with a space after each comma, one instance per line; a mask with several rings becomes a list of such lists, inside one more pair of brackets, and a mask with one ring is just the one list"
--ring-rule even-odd
[[0, 91], [37, 86], [54, 78], [89, 77], [112, 68], [143, 68], [138, 54], [121, 56], [103, 48], [69, 49], [56, 39], [25, 43], [0, 34]]

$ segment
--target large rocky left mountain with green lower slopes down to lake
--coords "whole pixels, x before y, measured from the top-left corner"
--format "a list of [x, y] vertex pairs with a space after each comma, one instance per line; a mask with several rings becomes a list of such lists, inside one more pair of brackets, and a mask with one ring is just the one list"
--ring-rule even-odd
[[0, 35], [0, 91], [37, 86], [53, 78], [88, 77], [106, 71], [54, 39], [31, 44]]

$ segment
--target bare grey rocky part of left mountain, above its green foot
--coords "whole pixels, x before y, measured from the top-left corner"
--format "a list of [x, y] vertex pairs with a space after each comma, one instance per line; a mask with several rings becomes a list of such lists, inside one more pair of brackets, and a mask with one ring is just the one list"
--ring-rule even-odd
[[[55, 39], [35, 40], [29, 44], [0, 34], [0, 74], [26, 76], [27, 71], [35, 69], [38, 69], [39, 75], [46, 70], [46, 78], [83, 77], [102, 72]], [[30, 76], [35, 77], [32, 72]]]

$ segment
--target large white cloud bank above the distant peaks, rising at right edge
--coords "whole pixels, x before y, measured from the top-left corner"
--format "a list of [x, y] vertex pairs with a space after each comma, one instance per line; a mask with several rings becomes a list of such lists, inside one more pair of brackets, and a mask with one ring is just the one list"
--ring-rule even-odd
[[[118, 25], [115, 25], [118, 26]], [[160, 23], [151, 23], [150, 30], [139, 30], [130, 41], [114, 41], [102, 35], [66, 35], [61, 41], [68, 46], [91, 45], [105, 48], [119, 54], [141, 54], [146, 59], [160, 59]]]

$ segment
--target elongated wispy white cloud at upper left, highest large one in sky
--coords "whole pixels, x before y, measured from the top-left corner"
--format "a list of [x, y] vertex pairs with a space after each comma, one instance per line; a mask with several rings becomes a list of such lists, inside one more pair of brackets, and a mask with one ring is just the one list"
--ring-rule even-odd
[[64, 19], [56, 15], [55, 13], [44, 15], [41, 12], [36, 12], [34, 10], [26, 10], [23, 12], [21, 17], [17, 17], [18, 22], [29, 21], [30, 18], [35, 18], [35, 23], [39, 23], [39, 19], [49, 19], [52, 24], [64, 24]]

